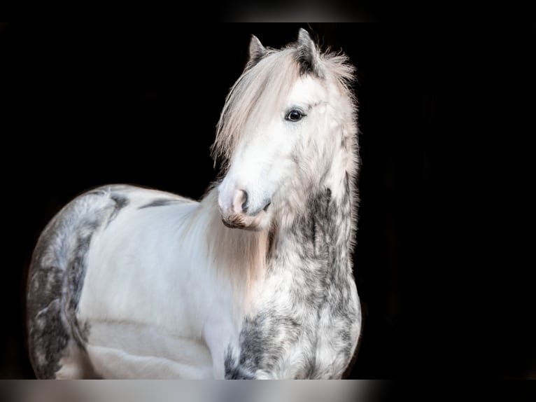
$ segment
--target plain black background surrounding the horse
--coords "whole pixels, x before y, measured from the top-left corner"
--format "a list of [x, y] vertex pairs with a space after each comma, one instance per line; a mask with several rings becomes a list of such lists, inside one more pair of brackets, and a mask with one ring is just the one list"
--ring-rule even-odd
[[33, 377], [25, 270], [48, 219], [104, 183], [199, 198], [250, 35], [278, 48], [299, 27], [358, 68], [365, 326], [351, 377], [536, 377], [521, 258], [536, 29], [405, 23], [0, 25], [0, 377]]

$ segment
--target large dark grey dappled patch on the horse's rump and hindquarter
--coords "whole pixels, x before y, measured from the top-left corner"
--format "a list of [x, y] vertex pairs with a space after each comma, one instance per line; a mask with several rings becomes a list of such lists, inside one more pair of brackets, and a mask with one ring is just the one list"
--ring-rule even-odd
[[108, 197], [106, 191], [80, 195], [62, 209], [43, 230], [34, 249], [27, 289], [29, 357], [38, 378], [54, 378], [59, 361], [73, 340], [85, 352], [90, 331], [76, 319], [92, 236], [127, 205], [127, 197], [113, 194], [97, 209], [85, 197]]

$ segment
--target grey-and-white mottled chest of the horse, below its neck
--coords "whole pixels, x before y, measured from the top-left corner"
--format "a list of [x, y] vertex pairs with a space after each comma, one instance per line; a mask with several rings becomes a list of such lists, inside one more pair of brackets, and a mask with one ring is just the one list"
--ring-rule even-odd
[[[341, 376], [357, 338], [357, 293], [349, 283], [339, 284], [346, 291], [334, 291], [321, 275], [308, 278], [309, 273], [280, 270], [267, 279], [255, 310], [242, 322], [239, 341], [227, 348], [225, 377]], [[337, 298], [343, 293], [344, 300]]]

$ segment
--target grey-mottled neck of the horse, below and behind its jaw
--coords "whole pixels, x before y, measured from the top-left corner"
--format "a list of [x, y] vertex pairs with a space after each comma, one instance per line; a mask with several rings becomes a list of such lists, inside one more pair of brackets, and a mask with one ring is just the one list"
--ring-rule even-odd
[[[283, 267], [280, 261], [302, 261], [305, 271], [315, 275], [346, 277], [351, 272], [351, 255], [357, 218], [357, 144], [349, 139], [330, 161], [327, 172], [311, 186], [301, 212], [283, 223], [269, 238], [269, 268]], [[302, 270], [303, 271], [303, 270]], [[299, 274], [299, 270], [294, 271]]]

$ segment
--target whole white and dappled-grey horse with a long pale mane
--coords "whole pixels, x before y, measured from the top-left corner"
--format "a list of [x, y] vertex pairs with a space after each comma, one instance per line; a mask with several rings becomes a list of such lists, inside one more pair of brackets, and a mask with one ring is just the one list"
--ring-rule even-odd
[[252, 35], [199, 201], [110, 184], [60, 209], [29, 266], [36, 377], [343, 377], [362, 321], [354, 80], [305, 29]]

